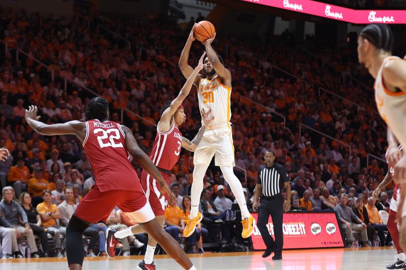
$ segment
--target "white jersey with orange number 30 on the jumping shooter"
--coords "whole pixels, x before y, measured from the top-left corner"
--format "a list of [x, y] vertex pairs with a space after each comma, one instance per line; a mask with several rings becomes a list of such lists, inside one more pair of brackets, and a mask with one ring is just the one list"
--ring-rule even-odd
[[212, 109], [211, 115], [215, 118], [211, 122], [212, 126], [228, 124], [231, 119], [230, 107], [231, 87], [226, 87], [221, 83], [218, 75], [209, 81], [201, 79], [197, 89], [199, 109], [206, 112]]

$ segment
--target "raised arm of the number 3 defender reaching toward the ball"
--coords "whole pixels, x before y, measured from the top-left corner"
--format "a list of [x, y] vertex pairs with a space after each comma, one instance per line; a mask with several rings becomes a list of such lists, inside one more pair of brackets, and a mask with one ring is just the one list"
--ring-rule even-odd
[[189, 95], [190, 89], [192, 88], [193, 82], [195, 81], [197, 74], [203, 68], [203, 59], [205, 58], [205, 55], [206, 52], [201, 55], [199, 63], [197, 64], [196, 68], [190, 74], [186, 83], [183, 85], [181, 91], [179, 92], [178, 96], [172, 101], [171, 106], [162, 113], [161, 120], [159, 122], [163, 123], [171, 122], [172, 116], [175, 114], [176, 110], [179, 108], [179, 106], [182, 104], [185, 98]]

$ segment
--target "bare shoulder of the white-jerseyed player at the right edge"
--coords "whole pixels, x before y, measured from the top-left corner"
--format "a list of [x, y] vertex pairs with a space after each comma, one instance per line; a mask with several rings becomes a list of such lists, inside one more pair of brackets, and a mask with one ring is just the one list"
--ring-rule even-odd
[[382, 76], [388, 89], [399, 88], [406, 93], [406, 61], [403, 59], [388, 61], [382, 70]]

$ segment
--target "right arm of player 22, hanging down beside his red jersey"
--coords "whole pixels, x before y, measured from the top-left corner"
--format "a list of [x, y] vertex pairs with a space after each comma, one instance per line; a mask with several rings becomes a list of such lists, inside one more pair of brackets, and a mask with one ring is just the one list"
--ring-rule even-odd
[[147, 154], [138, 146], [137, 140], [136, 138], [134, 138], [134, 135], [132, 135], [131, 130], [123, 125], [121, 125], [121, 128], [125, 134], [125, 147], [127, 148], [127, 151], [131, 154], [134, 160], [138, 164], [140, 164], [141, 168], [143, 168], [149, 175], [151, 175], [152, 178], [158, 181], [161, 186], [161, 194], [167, 194], [169, 197], [169, 203], [171, 203], [171, 205], [175, 205], [176, 198], [169, 188], [168, 184], [166, 183], [165, 179], [163, 179], [162, 175], [159, 173], [155, 164], [152, 163]]

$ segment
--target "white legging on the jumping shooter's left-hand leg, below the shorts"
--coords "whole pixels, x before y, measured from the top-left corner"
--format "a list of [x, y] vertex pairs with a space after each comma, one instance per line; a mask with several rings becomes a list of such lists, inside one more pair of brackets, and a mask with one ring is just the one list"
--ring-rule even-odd
[[201, 191], [203, 191], [203, 177], [206, 174], [207, 167], [209, 164], [195, 164], [193, 169], [193, 183], [192, 189], [190, 192], [190, 217], [195, 218], [197, 217], [197, 213], [199, 212], [199, 203], [200, 203], [200, 196]]

